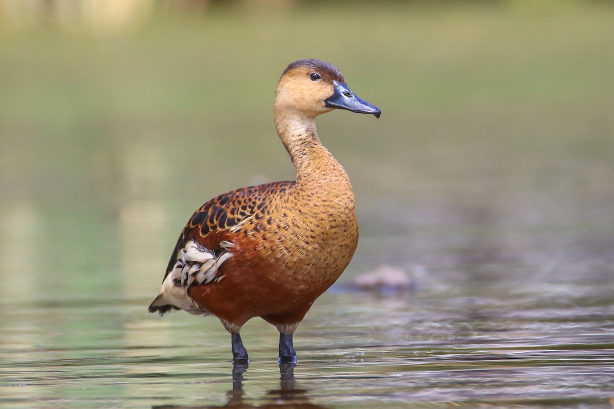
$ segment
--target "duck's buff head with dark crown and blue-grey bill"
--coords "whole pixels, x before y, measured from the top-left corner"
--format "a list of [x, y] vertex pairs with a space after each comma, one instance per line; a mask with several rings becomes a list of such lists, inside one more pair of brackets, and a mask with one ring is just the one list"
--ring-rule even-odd
[[337, 67], [319, 59], [300, 59], [286, 68], [275, 91], [275, 107], [308, 118], [335, 108], [381, 115], [378, 107], [349, 90]]

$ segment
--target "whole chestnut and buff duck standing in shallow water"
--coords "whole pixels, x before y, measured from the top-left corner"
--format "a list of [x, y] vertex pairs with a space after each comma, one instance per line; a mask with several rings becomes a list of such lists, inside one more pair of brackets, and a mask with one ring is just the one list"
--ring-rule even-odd
[[296, 361], [292, 334], [358, 243], [352, 185], [316, 132], [316, 117], [335, 108], [381, 113], [332, 64], [301, 59], [286, 68], [273, 117], [297, 180], [236, 189], [196, 210], [149, 312], [217, 316], [231, 334], [235, 363], [248, 359], [241, 327], [259, 316], [279, 331], [279, 361]]

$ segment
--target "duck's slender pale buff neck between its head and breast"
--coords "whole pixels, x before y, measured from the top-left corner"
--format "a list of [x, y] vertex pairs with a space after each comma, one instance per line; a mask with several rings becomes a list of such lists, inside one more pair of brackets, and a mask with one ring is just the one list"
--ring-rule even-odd
[[297, 183], [343, 183], [349, 178], [339, 162], [322, 146], [316, 131], [315, 118], [298, 112], [274, 112], [281, 141], [297, 168]]

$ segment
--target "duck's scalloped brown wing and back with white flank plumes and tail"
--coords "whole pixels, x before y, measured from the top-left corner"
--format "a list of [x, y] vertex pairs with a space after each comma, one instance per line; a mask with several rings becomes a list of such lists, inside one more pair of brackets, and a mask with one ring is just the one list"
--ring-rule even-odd
[[149, 312], [171, 308], [202, 313], [189, 297], [190, 288], [223, 278], [221, 267], [232, 255], [230, 237], [251, 218], [263, 218], [267, 199], [282, 194], [295, 182], [249, 186], [220, 194], [203, 204], [188, 220], [171, 254], [160, 295]]

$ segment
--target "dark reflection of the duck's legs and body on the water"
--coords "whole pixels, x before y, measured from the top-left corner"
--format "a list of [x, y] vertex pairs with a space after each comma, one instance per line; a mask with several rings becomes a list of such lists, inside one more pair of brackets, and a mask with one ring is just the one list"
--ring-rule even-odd
[[161, 405], [153, 406], [152, 409], [206, 409], [206, 408], [311, 408], [327, 409], [328, 407], [309, 402], [307, 391], [297, 389], [294, 381], [294, 362], [279, 364], [279, 389], [272, 389], [266, 393], [266, 403], [252, 405], [244, 400], [243, 374], [249, 364], [235, 364], [232, 370], [232, 389], [228, 391], [228, 402], [225, 405], [184, 406], [184, 405]]

